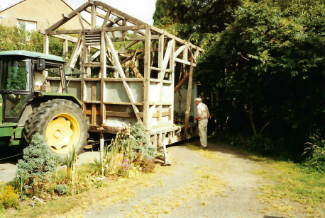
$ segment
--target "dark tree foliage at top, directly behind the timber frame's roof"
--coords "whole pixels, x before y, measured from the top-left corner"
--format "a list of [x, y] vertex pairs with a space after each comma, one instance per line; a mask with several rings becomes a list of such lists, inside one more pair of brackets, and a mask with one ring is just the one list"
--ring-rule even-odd
[[[158, 0], [154, 25], [194, 44], [211, 40], [232, 23], [240, 0]], [[203, 43], [203, 45], [207, 45]]]

